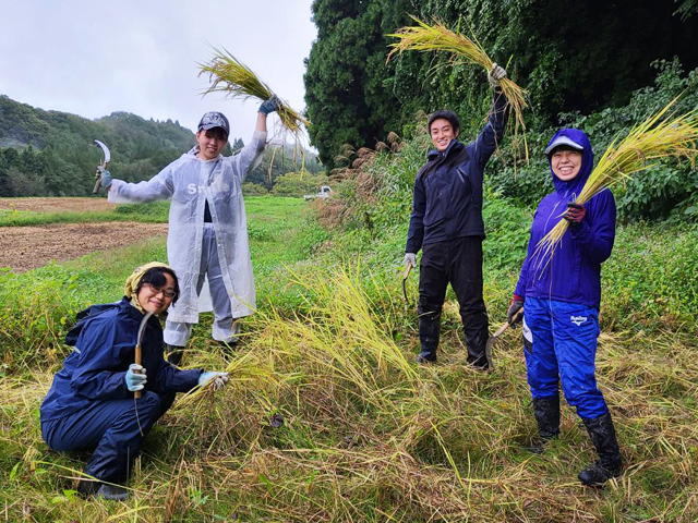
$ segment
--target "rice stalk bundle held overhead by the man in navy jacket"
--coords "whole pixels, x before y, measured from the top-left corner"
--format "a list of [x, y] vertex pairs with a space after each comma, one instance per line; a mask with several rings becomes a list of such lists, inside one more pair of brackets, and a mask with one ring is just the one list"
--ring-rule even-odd
[[[477, 39], [470, 39], [461, 34], [455, 33], [447, 28], [443, 23], [435, 21], [433, 25], [422, 22], [416, 16], [411, 16], [419, 25], [413, 27], [402, 27], [397, 33], [389, 34], [398, 41], [390, 44], [393, 50], [388, 53], [387, 61], [390, 60], [396, 52], [401, 54], [404, 51], [444, 51], [455, 54], [454, 60], [465, 59], [467, 62], [482, 65], [486, 72], [490, 72], [492, 59], [484, 51]], [[528, 147], [526, 146], [526, 125], [524, 123], [524, 109], [528, 107], [526, 101], [527, 92], [519, 87], [508, 77], [500, 81], [502, 92], [509, 104], [509, 109], [514, 111], [514, 136], [518, 136], [520, 129], [524, 138], [525, 154], [528, 161]]]

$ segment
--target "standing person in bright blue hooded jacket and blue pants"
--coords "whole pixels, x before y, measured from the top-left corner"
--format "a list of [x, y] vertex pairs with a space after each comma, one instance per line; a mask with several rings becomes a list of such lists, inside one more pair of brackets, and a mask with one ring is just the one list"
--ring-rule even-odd
[[[559, 434], [559, 380], [599, 453], [599, 461], [581, 471], [579, 479], [602, 485], [622, 473], [615, 428], [594, 376], [601, 264], [613, 248], [615, 200], [606, 190], [583, 207], [574, 204], [593, 167], [585, 133], [559, 131], [545, 154], [555, 192], [542, 199], [533, 216], [528, 256], [507, 319], [512, 323], [526, 304], [524, 352], [540, 435], [531, 450], [542, 452], [545, 442]], [[561, 219], [569, 221], [569, 229], [554, 255], [544, 256], [537, 246]]]

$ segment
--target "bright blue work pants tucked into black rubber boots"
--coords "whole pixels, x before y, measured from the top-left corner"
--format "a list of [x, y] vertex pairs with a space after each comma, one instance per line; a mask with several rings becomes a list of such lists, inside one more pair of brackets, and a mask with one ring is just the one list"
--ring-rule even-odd
[[533, 336], [532, 349], [524, 350], [533, 399], [557, 396], [559, 377], [567, 402], [580, 417], [595, 419], [609, 412], [594, 376], [599, 312], [527, 297], [525, 320]]

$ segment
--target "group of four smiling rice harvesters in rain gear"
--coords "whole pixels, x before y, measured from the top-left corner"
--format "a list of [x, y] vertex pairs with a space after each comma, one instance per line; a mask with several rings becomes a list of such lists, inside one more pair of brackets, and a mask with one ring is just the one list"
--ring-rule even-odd
[[[482, 185], [485, 165], [507, 123], [500, 87], [505, 76], [496, 64], [488, 75], [493, 105], [474, 142], [466, 145], [458, 139], [460, 123], [454, 112], [441, 110], [429, 118], [434, 150], [414, 182], [405, 255], [405, 263], [414, 266], [422, 251], [420, 364], [436, 362], [442, 307], [450, 283], [460, 305], [468, 362], [477, 369], [488, 368]], [[41, 434], [57, 451], [93, 450], [79, 484], [81, 494], [125, 499], [122, 484], [143, 438], [171, 406], [174, 394], [197, 386], [219, 388], [228, 381], [226, 373], [183, 370], [177, 365], [198, 321], [198, 295], [206, 280], [217, 342], [233, 343], [237, 320], [254, 309], [242, 182], [261, 161], [266, 118], [278, 107], [275, 97], [261, 105], [252, 141], [236, 156], [221, 155], [230, 133], [227, 118], [207, 112], [198, 124], [196, 146], [149, 181], [127, 183], [101, 169], [111, 203], [171, 199], [169, 265], [136, 268], [120, 302], [83, 311], [67, 337], [73, 351], [41, 405]], [[591, 145], [581, 131], [559, 131], [545, 155], [555, 192], [535, 211], [507, 318], [515, 323], [525, 309], [524, 353], [540, 436], [530, 450], [544, 451], [559, 434], [559, 381], [600, 457], [579, 479], [602, 485], [622, 472], [611, 414], [594, 377], [600, 266], [613, 247], [615, 205], [609, 191], [583, 207], [574, 204], [593, 167]], [[570, 222], [562, 245], [551, 259], [539, 259], [539, 240], [561, 219]], [[136, 344], [143, 351], [140, 365], [134, 362]]]

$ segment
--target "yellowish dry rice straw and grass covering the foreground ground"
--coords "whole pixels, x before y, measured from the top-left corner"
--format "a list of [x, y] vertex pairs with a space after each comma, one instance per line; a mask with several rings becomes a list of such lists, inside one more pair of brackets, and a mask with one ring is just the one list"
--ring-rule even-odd
[[[438, 365], [412, 363], [399, 282], [356, 271], [294, 276], [303, 313], [254, 319], [239, 355], [202, 348], [186, 363], [228, 367], [222, 392], [180, 399], [146, 439], [125, 503], [73, 499], [65, 476], [84, 457], [49, 452], [38, 404], [50, 375], [0, 382], [0, 507], [7, 521], [540, 522], [698, 519], [694, 340], [660, 333], [641, 350], [603, 335], [600, 387], [628, 469], [604, 490], [576, 473], [593, 457], [578, 418], [543, 455], [534, 433], [520, 332], [477, 373], [444, 313]], [[648, 340], [649, 343], [649, 340]], [[227, 362], [227, 363], [226, 363]], [[61, 469], [65, 467], [65, 469]], [[13, 471], [10, 474], [8, 471]]]

